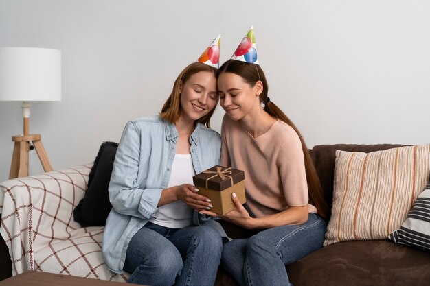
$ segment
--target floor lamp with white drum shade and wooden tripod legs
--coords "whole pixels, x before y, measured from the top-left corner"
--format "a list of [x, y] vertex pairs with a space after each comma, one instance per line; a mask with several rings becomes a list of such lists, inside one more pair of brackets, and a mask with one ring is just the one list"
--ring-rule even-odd
[[61, 52], [33, 47], [0, 48], [0, 101], [22, 102], [23, 134], [12, 136], [9, 178], [28, 176], [28, 152], [36, 149], [45, 171], [52, 171], [41, 134], [29, 133], [30, 106], [61, 100]]

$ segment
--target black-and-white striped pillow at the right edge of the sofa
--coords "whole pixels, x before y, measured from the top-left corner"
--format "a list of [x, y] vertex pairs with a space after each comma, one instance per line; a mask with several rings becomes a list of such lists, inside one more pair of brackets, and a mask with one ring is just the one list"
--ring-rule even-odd
[[430, 251], [430, 181], [418, 195], [406, 221], [388, 238], [400, 246]]

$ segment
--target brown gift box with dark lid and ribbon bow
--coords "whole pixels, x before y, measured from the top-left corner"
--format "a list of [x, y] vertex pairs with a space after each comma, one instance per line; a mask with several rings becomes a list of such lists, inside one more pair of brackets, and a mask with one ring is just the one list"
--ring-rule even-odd
[[234, 209], [231, 193], [236, 193], [240, 204], [245, 204], [245, 174], [238, 169], [214, 166], [192, 177], [199, 194], [211, 200], [210, 211], [225, 215]]

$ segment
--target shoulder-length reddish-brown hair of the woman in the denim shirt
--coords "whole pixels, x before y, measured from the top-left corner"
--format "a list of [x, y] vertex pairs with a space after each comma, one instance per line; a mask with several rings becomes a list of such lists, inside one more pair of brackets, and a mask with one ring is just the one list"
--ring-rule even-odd
[[[183, 86], [192, 75], [200, 73], [201, 71], [208, 71], [216, 77], [217, 69], [201, 62], [188, 64], [188, 66], [179, 73], [177, 79], [174, 81], [172, 93], [170, 93], [170, 96], [166, 102], [164, 102], [163, 108], [161, 108], [160, 116], [164, 120], [174, 124], [179, 119], [181, 115], [181, 85]], [[210, 118], [214, 114], [214, 111], [215, 108], [210, 110], [207, 115], [201, 117], [198, 122], [210, 127]]]

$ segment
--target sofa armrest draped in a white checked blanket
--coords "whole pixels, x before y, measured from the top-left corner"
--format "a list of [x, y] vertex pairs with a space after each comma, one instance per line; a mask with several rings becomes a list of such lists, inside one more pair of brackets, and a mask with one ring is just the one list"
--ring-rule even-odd
[[0, 235], [12, 273], [34, 270], [33, 254], [71, 237], [73, 209], [84, 197], [91, 164], [0, 183]]

